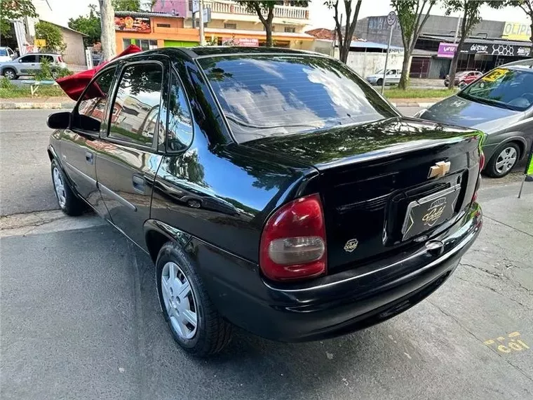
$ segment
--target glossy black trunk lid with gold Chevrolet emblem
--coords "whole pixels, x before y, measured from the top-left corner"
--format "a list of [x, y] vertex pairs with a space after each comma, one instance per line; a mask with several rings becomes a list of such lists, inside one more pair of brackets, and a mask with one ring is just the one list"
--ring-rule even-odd
[[475, 192], [482, 137], [394, 118], [245, 145], [320, 172], [328, 270], [335, 272], [422, 246], [450, 227]]

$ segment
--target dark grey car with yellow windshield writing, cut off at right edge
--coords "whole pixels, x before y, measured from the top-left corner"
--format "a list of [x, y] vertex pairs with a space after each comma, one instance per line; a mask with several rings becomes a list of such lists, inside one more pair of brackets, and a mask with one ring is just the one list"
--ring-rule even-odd
[[501, 178], [527, 156], [533, 141], [533, 59], [492, 69], [417, 116], [487, 133], [485, 173]]

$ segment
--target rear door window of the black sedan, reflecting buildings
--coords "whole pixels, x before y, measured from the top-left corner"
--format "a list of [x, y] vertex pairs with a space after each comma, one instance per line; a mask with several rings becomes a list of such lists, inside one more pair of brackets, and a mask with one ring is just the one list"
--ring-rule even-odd
[[109, 138], [151, 146], [156, 128], [164, 128], [158, 124], [162, 81], [161, 65], [137, 64], [124, 70], [113, 105], [118, 115]]

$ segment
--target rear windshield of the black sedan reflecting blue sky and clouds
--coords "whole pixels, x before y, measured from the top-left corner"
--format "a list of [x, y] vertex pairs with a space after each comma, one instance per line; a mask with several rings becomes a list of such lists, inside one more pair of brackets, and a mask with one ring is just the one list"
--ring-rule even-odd
[[238, 142], [398, 116], [340, 62], [311, 55], [198, 60]]

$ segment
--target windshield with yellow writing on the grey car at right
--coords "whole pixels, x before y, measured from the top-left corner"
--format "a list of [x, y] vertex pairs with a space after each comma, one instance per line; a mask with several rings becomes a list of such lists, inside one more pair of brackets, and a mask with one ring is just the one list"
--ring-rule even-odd
[[533, 71], [493, 69], [458, 95], [475, 102], [525, 111], [533, 105]]

